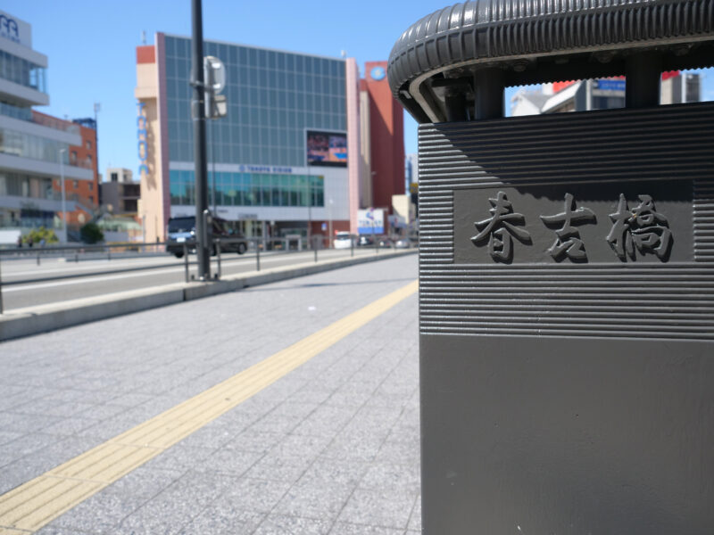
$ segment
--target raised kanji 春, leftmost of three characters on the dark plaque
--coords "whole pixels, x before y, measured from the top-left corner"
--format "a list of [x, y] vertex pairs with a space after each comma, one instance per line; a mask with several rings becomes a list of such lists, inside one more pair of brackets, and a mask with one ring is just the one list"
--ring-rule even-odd
[[491, 218], [474, 223], [476, 229], [480, 231], [471, 237], [474, 244], [480, 243], [488, 236], [488, 252], [494, 260], [511, 261], [513, 240], [511, 235], [518, 238], [523, 243], [531, 243], [530, 234], [523, 228], [514, 225], [525, 225], [526, 218], [522, 214], [515, 213], [511, 202], [503, 192], [498, 192], [491, 202]]

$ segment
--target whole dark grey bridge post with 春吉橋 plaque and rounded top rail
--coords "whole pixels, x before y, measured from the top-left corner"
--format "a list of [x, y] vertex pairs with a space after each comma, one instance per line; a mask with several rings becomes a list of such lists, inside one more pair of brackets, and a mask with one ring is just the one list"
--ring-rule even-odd
[[[466, 2], [394, 45], [425, 535], [714, 532], [714, 103], [659, 105], [712, 57], [708, 0]], [[502, 117], [622, 75], [625, 109]]]

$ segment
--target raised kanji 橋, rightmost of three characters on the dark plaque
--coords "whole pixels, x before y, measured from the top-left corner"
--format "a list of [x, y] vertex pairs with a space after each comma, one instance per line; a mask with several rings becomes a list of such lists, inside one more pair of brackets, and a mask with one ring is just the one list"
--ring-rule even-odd
[[625, 195], [620, 193], [618, 211], [610, 214], [612, 229], [607, 237], [619, 259], [635, 259], [635, 249], [641, 254], [653, 252], [660, 260], [668, 258], [672, 231], [667, 218], [657, 212], [650, 195], [639, 195], [640, 204], [634, 210], [627, 207]]

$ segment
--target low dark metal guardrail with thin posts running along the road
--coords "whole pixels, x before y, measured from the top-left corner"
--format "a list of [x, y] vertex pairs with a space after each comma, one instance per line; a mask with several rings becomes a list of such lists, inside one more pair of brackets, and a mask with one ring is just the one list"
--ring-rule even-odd
[[[371, 236], [369, 236], [371, 238]], [[368, 249], [373, 248], [375, 254], [378, 254], [380, 249], [396, 248], [396, 241], [394, 238], [382, 237], [374, 239], [373, 243], [369, 245], [358, 247], [357, 242], [359, 236], [351, 235], [350, 240], [350, 256], [354, 256], [355, 248]], [[235, 244], [245, 243], [246, 252], [253, 252], [255, 256], [255, 269], [256, 271], [261, 270], [261, 254], [265, 254], [270, 251], [270, 254], [290, 254], [301, 251], [310, 251], [314, 253], [314, 261], [319, 261], [320, 251], [336, 251], [337, 249], [333, 247], [334, 243], [328, 240], [328, 236], [325, 235], [312, 235], [311, 243], [305, 238], [214, 238], [212, 240], [212, 248], [215, 251], [216, 257], [216, 272], [214, 274], [214, 280], [220, 280], [222, 275], [222, 264], [226, 260], [222, 258], [221, 254], [227, 251], [237, 251]], [[418, 241], [411, 240], [412, 246], [418, 246]], [[0, 249], [0, 260], [3, 259], [27, 259], [35, 258], [37, 261], [37, 266], [41, 265], [42, 259], [66, 259], [79, 263], [79, 260], [89, 260], [89, 259], [142, 259], [147, 256], [163, 256], [170, 254], [169, 249], [174, 250], [177, 245], [181, 248], [181, 257], [184, 263], [184, 278], [187, 283], [195, 280], [195, 276], [190, 274], [190, 267], [195, 266], [197, 262], [195, 260], [190, 260], [189, 256], [192, 250], [195, 248], [195, 241], [187, 241], [183, 243], [176, 242], [156, 242], [156, 243], [101, 243], [95, 245], [45, 245], [36, 247], [19, 247], [11, 249]], [[304, 246], [304, 248], [303, 248]], [[347, 249], [345, 248], [345, 251]], [[129, 254], [127, 254], [129, 253]], [[238, 258], [236, 258], [238, 259]], [[0, 262], [1, 264], [2, 262]], [[150, 271], [152, 269], [158, 268], [173, 268], [176, 267], [176, 263], [166, 263], [166, 264], [154, 264], [151, 266], [134, 266], [125, 268], [106, 268], [101, 270], [92, 271], [90, 273], [79, 273], [79, 274], [65, 274], [61, 276], [43, 276], [34, 279], [22, 279], [18, 281], [13, 281], [12, 283], [4, 283], [2, 277], [2, 269], [0, 269], [0, 314], [3, 314], [3, 286], [12, 284], [34, 284], [34, 283], [46, 283], [52, 281], [58, 281], [70, 278], [79, 277], [91, 277], [91, 276], [102, 276], [108, 274], [125, 273], [129, 271], [139, 271], [146, 270]]]

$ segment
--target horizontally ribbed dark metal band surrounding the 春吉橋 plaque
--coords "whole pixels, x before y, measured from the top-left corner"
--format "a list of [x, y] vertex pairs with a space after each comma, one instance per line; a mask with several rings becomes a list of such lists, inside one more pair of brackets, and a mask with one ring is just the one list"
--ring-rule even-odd
[[[714, 338], [712, 164], [711, 103], [420, 126], [421, 333]], [[687, 188], [693, 261], [454, 263], [461, 190], [643, 180]]]

